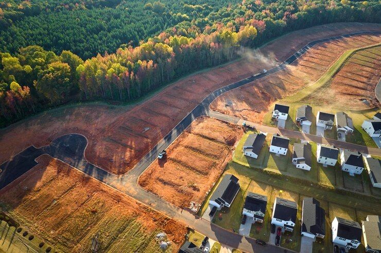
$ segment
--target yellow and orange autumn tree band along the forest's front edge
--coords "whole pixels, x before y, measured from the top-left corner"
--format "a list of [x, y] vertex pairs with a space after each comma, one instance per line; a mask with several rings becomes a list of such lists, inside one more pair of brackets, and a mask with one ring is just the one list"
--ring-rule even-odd
[[[143, 8], [167, 10], [160, 2]], [[181, 8], [195, 16], [208, 10], [205, 17], [181, 21], [137, 46], [122, 44], [115, 53], [85, 61], [72, 51], [57, 54], [40, 46], [0, 53], [0, 125], [69, 101], [131, 101], [187, 73], [236, 59], [247, 48], [286, 32], [332, 22], [379, 23], [381, 16], [377, 1], [249, 0], [216, 11], [206, 5]]]

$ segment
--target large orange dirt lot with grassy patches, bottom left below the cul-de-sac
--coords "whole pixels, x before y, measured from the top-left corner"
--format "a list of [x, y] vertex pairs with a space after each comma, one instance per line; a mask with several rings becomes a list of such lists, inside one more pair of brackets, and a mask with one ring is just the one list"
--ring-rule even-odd
[[90, 252], [96, 232], [101, 252], [159, 252], [155, 236], [164, 231], [172, 242], [165, 252], [177, 252], [187, 231], [181, 223], [48, 155], [38, 161], [0, 191], [0, 206], [24, 230], [63, 252]]

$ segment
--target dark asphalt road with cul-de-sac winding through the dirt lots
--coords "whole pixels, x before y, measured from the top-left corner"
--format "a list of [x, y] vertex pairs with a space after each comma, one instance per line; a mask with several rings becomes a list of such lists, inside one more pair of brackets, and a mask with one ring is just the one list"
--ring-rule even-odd
[[[310, 42], [298, 50], [296, 53], [291, 55], [285, 62], [277, 67], [268, 70], [266, 73], [257, 74], [255, 76], [248, 77], [247, 79], [215, 90], [206, 96], [206, 98], [198, 106], [196, 106], [187, 116], [185, 116], [185, 118], [174, 129], [172, 129], [164, 137], [163, 140], [161, 140], [155, 147], [153, 147], [145, 155], [145, 157], [135, 165], [133, 169], [123, 175], [117, 176], [89, 163], [84, 157], [84, 150], [87, 146], [86, 138], [79, 134], [68, 134], [54, 140], [48, 146], [42, 148], [29, 147], [28, 149], [22, 151], [20, 154], [16, 155], [12, 160], [0, 165], [0, 169], [3, 170], [3, 172], [0, 173], [0, 189], [4, 188], [13, 180], [20, 177], [22, 173], [25, 173], [31, 169], [36, 164], [36, 162], [34, 162], [35, 158], [43, 153], [47, 153], [51, 157], [59, 159], [73, 166], [74, 168], [83, 171], [89, 176], [109, 186], [112, 186], [121, 192], [128, 194], [130, 197], [136, 199], [137, 201], [149, 205], [153, 209], [164, 213], [168, 217], [184, 222], [189, 227], [196, 229], [197, 231], [219, 241], [222, 244], [233, 248], [239, 248], [245, 252], [280, 252], [280, 247], [276, 247], [274, 245], [268, 245], [267, 247], [258, 246], [255, 244], [255, 240], [253, 238], [240, 236], [237, 233], [233, 233], [232, 231], [223, 229], [213, 223], [202, 220], [200, 217], [193, 215], [190, 212], [182, 211], [179, 207], [172, 205], [171, 203], [155, 196], [153, 193], [145, 191], [143, 188], [141, 188], [137, 184], [138, 177], [140, 177], [144, 170], [156, 159], [158, 153], [161, 150], [166, 149], [193, 122], [194, 119], [203, 115], [217, 115], [215, 112], [211, 113], [209, 110], [209, 105], [217, 98], [217, 96], [283, 70], [287, 65], [293, 63], [301, 55], [307, 52], [309, 48], [315, 46], [318, 43], [338, 40], [340, 38], [359, 34], [378, 33], [356, 32], [341, 36], [323, 38], [321, 40]], [[234, 117], [230, 117], [228, 115], [223, 116], [223, 114], [219, 115], [217, 118], [222, 118], [224, 120], [233, 122], [239, 120], [237, 118], [234, 119]], [[340, 143], [338, 144], [340, 145]], [[360, 147], [366, 148], [363, 146]], [[18, 167], [22, 168], [20, 170], [21, 174], [14, 174], [14, 168]], [[288, 251], [290, 252], [290, 250]]]

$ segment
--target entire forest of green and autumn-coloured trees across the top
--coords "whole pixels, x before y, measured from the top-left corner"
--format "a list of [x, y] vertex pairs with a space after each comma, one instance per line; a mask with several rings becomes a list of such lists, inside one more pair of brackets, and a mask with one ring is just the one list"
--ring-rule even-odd
[[379, 23], [377, 0], [0, 3], [0, 126], [77, 101], [127, 103], [284, 33]]

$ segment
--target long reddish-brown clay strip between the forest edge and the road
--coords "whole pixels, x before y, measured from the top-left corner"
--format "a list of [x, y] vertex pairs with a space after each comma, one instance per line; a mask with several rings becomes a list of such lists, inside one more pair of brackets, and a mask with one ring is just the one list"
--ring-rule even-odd
[[112, 173], [125, 173], [213, 90], [274, 66], [310, 41], [380, 27], [338, 23], [292, 32], [239, 61], [188, 76], [132, 109], [92, 105], [48, 111], [2, 130], [0, 163], [29, 145], [46, 145], [77, 132], [89, 140], [85, 155], [90, 162]]

